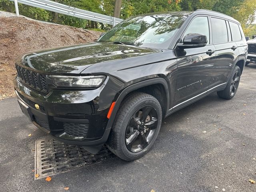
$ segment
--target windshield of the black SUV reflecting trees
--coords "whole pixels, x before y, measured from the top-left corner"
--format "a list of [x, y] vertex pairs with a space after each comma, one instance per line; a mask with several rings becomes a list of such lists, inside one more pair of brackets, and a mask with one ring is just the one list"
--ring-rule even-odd
[[104, 34], [98, 42], [134, 44], [149, 48], [168, 48], [187, 15], [148, 15], [124, 20]]

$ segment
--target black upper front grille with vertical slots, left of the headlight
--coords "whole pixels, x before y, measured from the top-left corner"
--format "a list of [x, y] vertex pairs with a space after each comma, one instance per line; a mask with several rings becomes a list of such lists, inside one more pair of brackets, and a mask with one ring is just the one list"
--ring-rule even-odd
[[18, 77], [22, 79], [24, 83], [33, 88], [40, 90], [42, 92], [48, 91], [48, 84], [46, 82], [46, 75], [40, 74], [27, 70], [16, 64], [16, 70], [18, 72]]

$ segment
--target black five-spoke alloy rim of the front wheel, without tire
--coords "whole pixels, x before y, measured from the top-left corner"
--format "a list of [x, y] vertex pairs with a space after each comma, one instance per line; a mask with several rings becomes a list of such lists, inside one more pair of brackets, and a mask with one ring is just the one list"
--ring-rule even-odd
[[130, 119], [126, 128], [126, 147], [140, 152], [152, 141], [157, 128], [158, 114], [152, 106], [143, 106]]

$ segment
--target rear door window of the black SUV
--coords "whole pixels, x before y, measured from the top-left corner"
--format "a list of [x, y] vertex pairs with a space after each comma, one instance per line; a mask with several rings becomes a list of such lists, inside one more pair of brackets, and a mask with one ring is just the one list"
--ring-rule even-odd
[[228, 42], [228, 31], [226, 21], [218, 18], [211, 18], [213, 43]]

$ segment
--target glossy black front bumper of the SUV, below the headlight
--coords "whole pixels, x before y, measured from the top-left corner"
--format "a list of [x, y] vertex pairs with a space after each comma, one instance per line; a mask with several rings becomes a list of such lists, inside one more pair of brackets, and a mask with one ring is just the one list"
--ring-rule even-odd
[[82, 146], [99, 146], [107, 141], [111, 129], [107, 127], [107, 114], [116, 95], [108, 86], [43, 94], [17, 77], [14, 88], [19, 103], [28, 106], [32, 123], [56, 140]]

